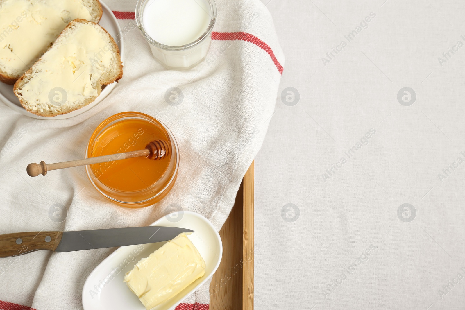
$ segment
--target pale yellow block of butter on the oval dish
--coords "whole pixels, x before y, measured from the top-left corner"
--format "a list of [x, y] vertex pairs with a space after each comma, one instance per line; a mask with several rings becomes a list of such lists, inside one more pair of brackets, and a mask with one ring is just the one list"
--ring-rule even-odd
[[204, 274], [205, 261], [183, 232], [149, 257], [142, 258], [133, 270], [126, 273], [124, 281], [149, 310], [172, 298]]

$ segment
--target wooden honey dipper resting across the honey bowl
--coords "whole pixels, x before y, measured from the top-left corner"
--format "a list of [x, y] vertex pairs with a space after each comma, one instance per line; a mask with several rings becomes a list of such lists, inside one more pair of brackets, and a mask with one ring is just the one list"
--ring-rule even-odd
[[27, 171], [27, 174], [31, 177], [37, 177], [39, 174], [45, 176], [47, 174], [47, 171], [49, 170], [57, 170], [57, 169], [63, 169], [63, 168], [71, 168], [71, 167], [77, 167], [77, 166], [106, 163], [108, 161], [133, 158], [133, 157], [145, 156], [148, 159], [159, 160], [159, 159], [162, 159], [168, 156], [168, 153], [169, 153], [169, 147], [166, 141], [154, 140], [150, 142], [149, 144], [147, 144], [145, 149], [139, 150], [139, 151], [116, 153], [116, 154], [110, 154], [110, 155], [104, 155], [104, 156], [98, 156], [98, 157], [70, 160], [70, 161], [64, 161], [61, 163], [48, 164], [48, 165], [42, 160], [39, 164], [32, 163], [32, 164], [27, 165], [26, 171]]

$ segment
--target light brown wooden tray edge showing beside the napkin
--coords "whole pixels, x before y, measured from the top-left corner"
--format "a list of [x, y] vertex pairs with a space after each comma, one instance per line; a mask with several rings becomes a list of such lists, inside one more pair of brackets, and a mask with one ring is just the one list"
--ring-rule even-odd
[[223, 258], [210, 284], [210, 310], [253, 310], [253, 162], [219, 236]]

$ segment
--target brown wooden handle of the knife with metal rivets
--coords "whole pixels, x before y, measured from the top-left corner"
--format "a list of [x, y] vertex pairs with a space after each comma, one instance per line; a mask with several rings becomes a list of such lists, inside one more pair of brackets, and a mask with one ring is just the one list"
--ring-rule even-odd
[[37, 250], [55, 251], [63, 231], [29, 231], [0, 235], [0, 257], [10, 257]]

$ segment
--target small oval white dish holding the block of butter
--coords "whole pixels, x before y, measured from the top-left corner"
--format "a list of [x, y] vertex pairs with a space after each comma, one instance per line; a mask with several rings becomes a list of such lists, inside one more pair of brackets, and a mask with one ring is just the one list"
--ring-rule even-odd
[[[175, 220], [177, 222], [174, 222]], [[192, 229], [194, 233], [188, 237], [199, 250], [206, 264], [203, 277], [190, 284], [178, 295], [153, 308], [153, 310], [172, 310], [213, 276], [223, 255], [223, 244], [212, 223], [192, 211], [173, 212], [160, 218], [151, 226], [155, 225]], [[148, 257], [165, 243], [166, 241], [122, 246], [106, 257], [87, 277], [82, 288], [82, 306], [84, 310], [145, 310], [139, 298], [123, 282], [124, 275], [127, 271], [132, 270], [141, 258]], [[118, 268], [118, 266], [121, 267]]]

